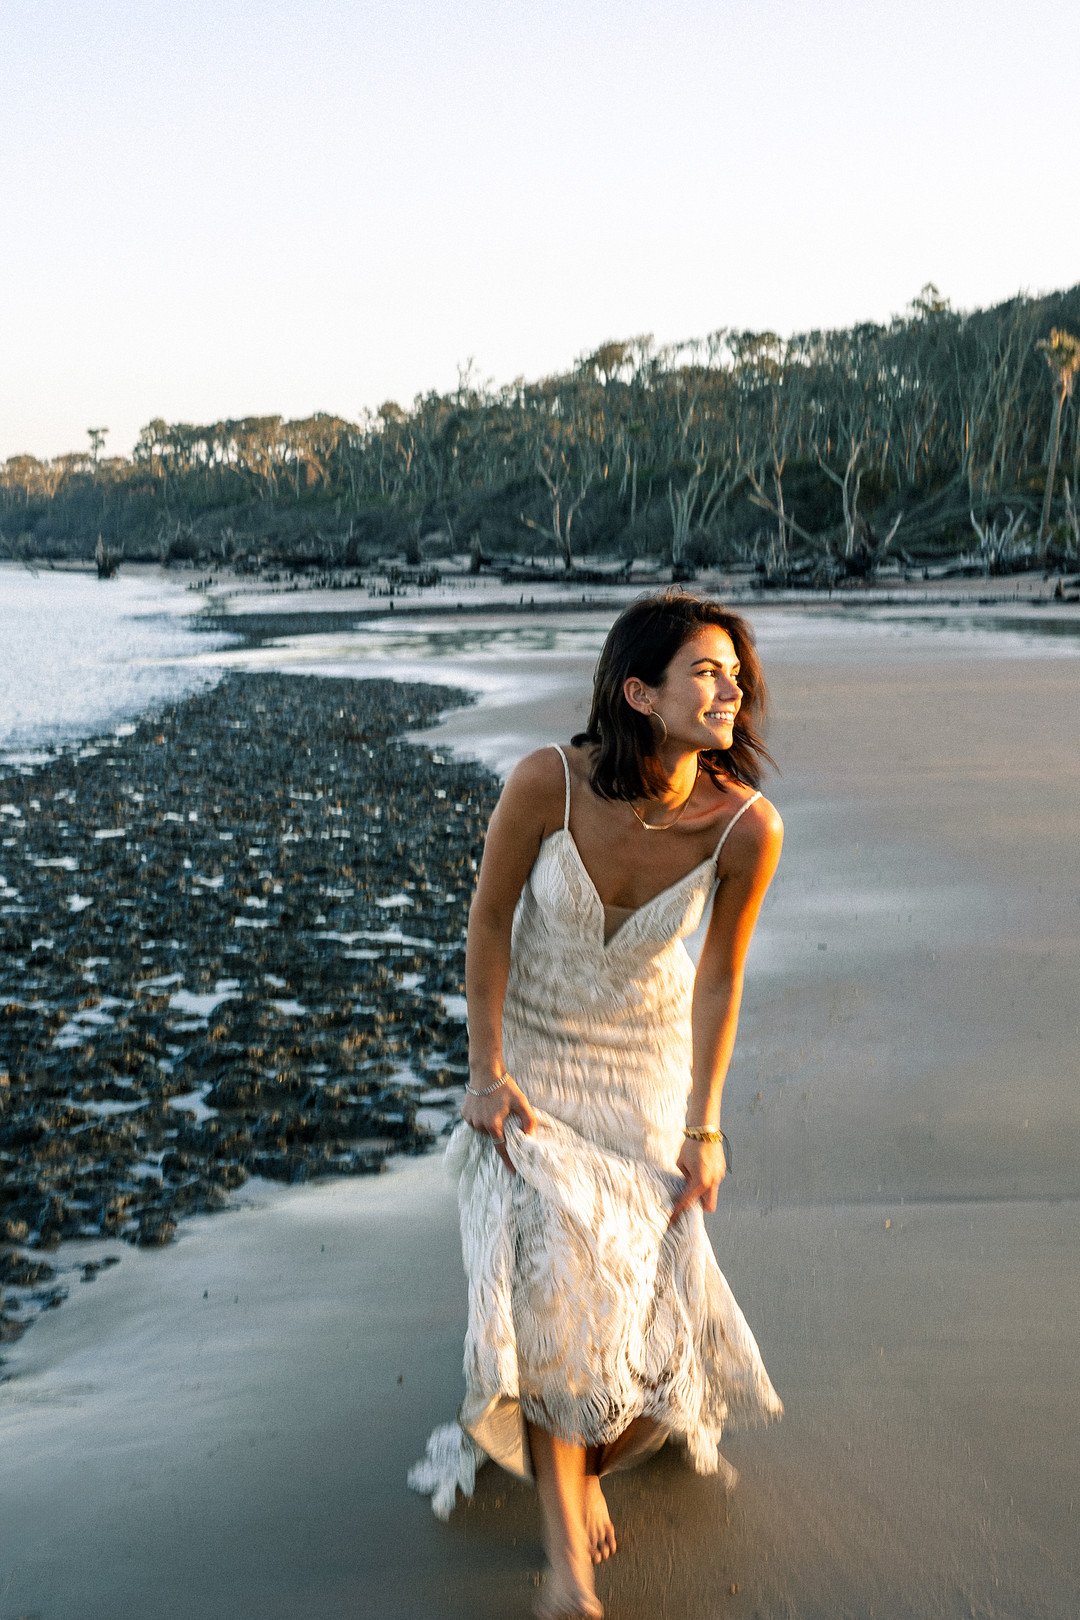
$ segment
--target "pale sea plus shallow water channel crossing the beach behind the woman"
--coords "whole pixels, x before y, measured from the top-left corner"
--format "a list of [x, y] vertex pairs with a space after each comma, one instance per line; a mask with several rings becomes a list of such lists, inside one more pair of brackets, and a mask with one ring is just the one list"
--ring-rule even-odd
[[[113, 580], [0, 564], [0, 760], [26, 760], [58, 744], [100, 735], [136, 716], [217, 682], [227, 669], [291, 674], [382, 676], [436, 680], [476, 693], [492, 718], [499, 710], [554, 697], [567, 677], [588, 692], [604, 635], [622, 603], [591, 611], [547, 611], [529, 620], [507, 614], [502, 593], [484, 582], [473, 606], [491, 596], [489, 614], [445, 619], [385, 616], [355, 627], [316, 630], [267, 643], [193, 627], [204, 595], [160, 570], [121, 572]], [[225, 601], [215, 603], [227, 606]], [[238, 595], [241, 611], [345, 608], [340, 598]], [[740, 604], [742, 606], [742, 604]], [[369, 603], [363, 601], [363, 609]], [[502, 609], [502, 611], [500, 611]], [[959, 661], [1080, 654], [1080, 614], [1044, 604], [1038, 611], [957, 604], [823, 604], [800, 611], [748, 604], [766, 664], [813, 648], [831, 661], [860, 663], [874, 645], [882, 654], [907, 642]], [[507, 735], [504, 753], [517, 757]]]

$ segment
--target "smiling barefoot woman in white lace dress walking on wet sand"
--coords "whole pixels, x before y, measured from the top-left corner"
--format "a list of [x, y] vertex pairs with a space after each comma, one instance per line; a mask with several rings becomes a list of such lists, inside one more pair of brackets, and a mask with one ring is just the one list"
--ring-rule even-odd
[[[780, 1401], [703, 1212], [743, 962], [780, 855], [758, 792], [745, 622], [670, 590], [627, 608], [588, 727], [507, 779], [470, 912], [470, 1082], [449, 1158], [470, 1277], [466, 1398], [410, 1482], [449, 1513], [484, 1455], [534, 1477], [538, 1614], [599, 1617], [599, 1476]], [[695, 972], [683, 938], [716, 886]], [[730, 1476], [730, 1469], [729, 1476]]]

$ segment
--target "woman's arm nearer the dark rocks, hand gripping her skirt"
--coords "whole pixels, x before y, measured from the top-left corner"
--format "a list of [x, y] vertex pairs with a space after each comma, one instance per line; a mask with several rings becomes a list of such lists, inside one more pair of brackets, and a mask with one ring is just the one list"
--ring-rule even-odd
[[[510, 977], [510, 930], [525, 880], [542, 841], [562, 826], [563, 776], [554, 748], [526, 755], [507, 778], [487, 826], [484, 855], [470, 907], [465, 946], [465, 996], [468, 1003], [470, 1085], [487, 1097], [465, 1094], [461, 1118], [491, 1136], [507, 1165], [502, 1128], [515, 1115], [525, 1132], [533, 1129], [533, 1110], [507, 1074], [502, 1059], [502, 1003]], [[502, 1082], [502, 1084], [497, 1084]]]

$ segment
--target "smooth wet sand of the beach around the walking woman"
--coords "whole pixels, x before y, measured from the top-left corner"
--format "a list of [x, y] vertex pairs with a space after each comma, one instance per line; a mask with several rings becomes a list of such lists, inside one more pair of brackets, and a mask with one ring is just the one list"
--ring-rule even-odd
[[[612, 1620], [1065, 1620], [1080, 663], [925, 632], [763, 642], [789, 834], [711, 1233], [787, 1414], [729, 1439], [730, 1498], [669, 1455], [615, 1481], [601, 1589]], [[589, 664], [440, 742], [500, 763], [565, 737]], [[531, 1494], [484, 1469], [442, 1526], [403, 1484], [460, 1388], [437, 1160], [244, 1194], [261, 1207], [125, 1254], [15, 1346], [2, 1620], [526, 1614]]]

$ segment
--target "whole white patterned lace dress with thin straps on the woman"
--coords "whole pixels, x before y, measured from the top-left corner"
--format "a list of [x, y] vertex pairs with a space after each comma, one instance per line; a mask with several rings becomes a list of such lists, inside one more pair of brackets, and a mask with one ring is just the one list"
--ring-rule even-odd
[[[510, 1119], [510, 1174], [486, 1136], [460, 1124], [468, 1273], [465, 1401], [408, 1476], [445, 1518], [486, 1455], [531, 1476], [525, 1421], [586, 1447], [648, 1418], [643, 1447], [680, 1439], [703, 1473], [729, 1418], [779, 1418], [780, 1400], [716, 1264], [699, 1205], [669, 1228], [691, 1087], [695, 932], [712, 855], [627, 915], [607, 938], [604, 904], [563, 825], [544, 839], [513, 917], [504, 1056], [538, 1115]], [[646, 1426], [640, 1426], [646, 1427]], [[601, 1471], [602, 1464], [601, 1464]]]

